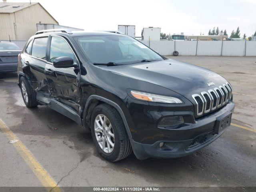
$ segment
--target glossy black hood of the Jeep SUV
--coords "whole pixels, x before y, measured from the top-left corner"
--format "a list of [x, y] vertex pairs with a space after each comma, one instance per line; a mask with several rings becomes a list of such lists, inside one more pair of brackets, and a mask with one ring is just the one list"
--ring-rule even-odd
[[[104, 67], [104, 69], [168, 88], [187, 98], [227, 82], [215, 72], [172, 59]], [[215, 85], [208, 86], [207, 83], [210, 82], [214, 82]]]

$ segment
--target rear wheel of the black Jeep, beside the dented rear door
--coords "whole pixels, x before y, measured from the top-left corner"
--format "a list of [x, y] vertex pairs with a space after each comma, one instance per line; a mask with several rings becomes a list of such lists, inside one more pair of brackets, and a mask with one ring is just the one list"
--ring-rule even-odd
[[20, 90], [23, 101], [28, 108], [33, 108], [38, 105], [36, 92], [32, 89], [28, 80], [23, 76], [20, 78]]

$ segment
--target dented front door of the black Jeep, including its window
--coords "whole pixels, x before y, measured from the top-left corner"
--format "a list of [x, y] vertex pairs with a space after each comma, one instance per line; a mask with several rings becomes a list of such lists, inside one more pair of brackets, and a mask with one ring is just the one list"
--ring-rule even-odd
[[[48, 82], [49, 94], [52, 98], [52, 103], [54, 100], [58, 102], [58, 107], [70, 108], [73, 111], [68, 111], [70, 113], [76, 113], [76, 115], [71, 114], [75, 117], [70, 117], [73, 120], [74, 118], [78, 118], [81, 114], [81, 95], [79, 88], [79, 80], [80, 80], [80, 69], [78, 60], [69, 46], [66, 39], [61, 36], [52, 36], [50, 49], [48, 51], [48, 64], [45, 67], [45, 75]], [[56, 58], [69, 56], [74, 60], [74, 64], [77, 64], [77, 67], [70, 68], [55, 68], [53, 66], [53, 62]], [[52, 108], [54, 108], [52, 106]], [[57, 111], [61, 111], [62, 109], [55, 109]], [[63, 112], [62, 112], [63, 113]], [[63, 113], [64, 114], [64, 113]]]

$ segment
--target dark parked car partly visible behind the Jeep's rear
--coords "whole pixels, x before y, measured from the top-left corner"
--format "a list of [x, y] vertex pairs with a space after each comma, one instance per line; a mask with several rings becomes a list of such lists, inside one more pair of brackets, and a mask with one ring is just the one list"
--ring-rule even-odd
[[16, 72], [21, 48], [13, 42], [0, 41], [0, 73]]

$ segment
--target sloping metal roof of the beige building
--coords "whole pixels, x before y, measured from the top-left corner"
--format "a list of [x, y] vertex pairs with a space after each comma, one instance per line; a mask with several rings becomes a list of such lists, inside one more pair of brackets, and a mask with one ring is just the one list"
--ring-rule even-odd
[[37, 3], [0, 2], [0, 13], [14, 13]]

